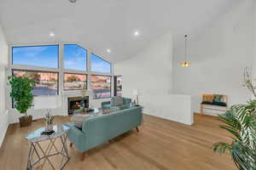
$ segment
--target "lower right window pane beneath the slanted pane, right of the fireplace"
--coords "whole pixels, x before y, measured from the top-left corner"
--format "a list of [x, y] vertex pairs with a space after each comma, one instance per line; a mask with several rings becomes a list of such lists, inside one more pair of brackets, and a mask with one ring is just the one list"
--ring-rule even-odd
[[111, 96], [111, 77], [91, 76], [91, 88], [93, 99], [110, 98]]

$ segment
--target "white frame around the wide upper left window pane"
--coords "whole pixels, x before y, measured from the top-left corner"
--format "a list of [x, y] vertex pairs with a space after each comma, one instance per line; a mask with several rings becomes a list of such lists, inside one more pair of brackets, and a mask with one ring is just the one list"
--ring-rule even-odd
[[10, 58], [10, 65], [17, 65], [19, 64], [14, 64], [14, 48], [30, 48], [30, 47], [44, 47], [44, 46], [57, 46], [58, 48], [58, 54], [57, 54], [57, 67], [47, 67], [47, 66], [38, 66], [38, 65], [22, 65], [22, 66], [29, 66], [29, 67], [43, 67], [43, 68], [49, 68], [49, 69], [59, 69], [60, 68], [60, 44], [59, 43], [54, 43], [54, 44], [44, 44], [44, 45], [14, 45], [11, 46], [11, 58]]

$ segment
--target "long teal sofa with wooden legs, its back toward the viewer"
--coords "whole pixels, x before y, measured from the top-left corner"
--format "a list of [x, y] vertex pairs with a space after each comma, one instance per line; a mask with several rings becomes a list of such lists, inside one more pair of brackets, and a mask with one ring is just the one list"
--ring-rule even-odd
[[83, 154], [82, 160], [84, 160], [86, 150], [140, 126], [143, 117], [142, 111], [142, 106], [135, 106], [102, 116], [92, 116], [83, 122], [82, 129], [71, 125], [67, 131], [67, 138], [70, 140], [71, 146], [74, 144]]

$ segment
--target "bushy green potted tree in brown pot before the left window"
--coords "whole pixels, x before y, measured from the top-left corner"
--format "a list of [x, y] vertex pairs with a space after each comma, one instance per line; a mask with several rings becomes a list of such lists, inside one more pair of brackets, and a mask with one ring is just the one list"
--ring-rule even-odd
[[10, 97], [13, 99], [14, 108], [24, 114], [20, 117], [20, 127], [30, 126], [32, 124], [32, 116], [27, 116], [26, 111], [32, 107], [32, 89], [35, 82], [27, 77], [8, 77], [11, 86]]

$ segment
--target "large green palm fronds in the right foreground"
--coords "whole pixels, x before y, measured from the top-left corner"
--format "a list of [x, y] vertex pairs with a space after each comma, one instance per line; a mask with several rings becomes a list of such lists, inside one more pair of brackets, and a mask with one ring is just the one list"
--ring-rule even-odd
[[233, 105], [229, 111], [218, 115], [225, 129], [232, 135], [230, 144], [220, 142], [213, 144], [213, 150], [223, 154], [230, 152], [239, 170], [256, 169], [256, 100], [250, 100], [247, 105]]

